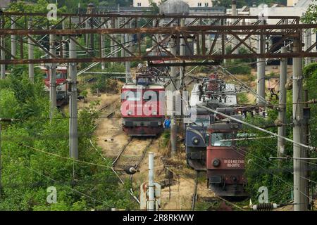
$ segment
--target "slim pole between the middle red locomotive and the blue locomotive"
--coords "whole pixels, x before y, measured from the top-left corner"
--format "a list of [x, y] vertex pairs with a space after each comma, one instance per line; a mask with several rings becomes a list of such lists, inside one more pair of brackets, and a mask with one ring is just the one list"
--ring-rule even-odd
[[[173, 39], [173, 37], [170, 39], [170, 53], [172, 53], [173, 55], [176, 55], [176, 44], [175, 44], [175, 39]], [[173, 63], [173, 62], [172, 62]], [[170, 77], [172, 78], [172, 82], [170, 82], [170, 91], [173, 94], [173, 115], [171, 116], [171, 123], [170, 123], [170, 146], [171, 146], [171, 155], [175, 156], [176, 155], [176, 151], [177, 151], [177, 137], [178, 137], [178, 127], [175, 121], [175, 98], [176, 96], [175, 91], [177, 91], [178, 86], [174, 86], [177, 85], [176, 83], [176, 77], [177, 77], [177, 71], [176, 71], [176, 67], [175, 66], [171, 66], [170, 67]], [[174, 82], [174, 84], [173, 84]]]

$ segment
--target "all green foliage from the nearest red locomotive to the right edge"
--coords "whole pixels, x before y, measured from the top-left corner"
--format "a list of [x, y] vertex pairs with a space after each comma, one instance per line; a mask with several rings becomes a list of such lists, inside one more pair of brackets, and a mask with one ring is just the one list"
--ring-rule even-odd
[[[317, 98], [316, 85], [317, 85], [317, 68], [316, 63], [311, 63], [304, 68], [305, 86], [304, 89], [309, 91], [309, 99]], [[277, 102], [275, 102], [276, 104]], [[317, 113], [315, 104], [309, 105], [311, 107], [311, 119], [309, 120], [310, 128], [310, 145], [317, 146], [317, 120], [314, 115]], [[269, 110], [268, 117], [254, 117], [248, 118], [248, 122], [256, 124], [259, 127], [264, 127], [268, 124], [273, 124], [274, 120], [278, 117], [276, 110]], [[287, 91], [287, 123], [292, 122], [292, 90]], [[248, 134], [255, 136], [266, 136], [263, 132], [255, 129], [245, 127]], [[269, 128], [268, 130], [277, 133], [277, 128]], [[286, 126], [286, 136], [292, 139], [292, 126]], [[263, 140], [249, 140], [240, 143], [247, 148], [247, 168], [246, 176], [248, 180], [247, 190], [251, 194], [253, 203], [257, 203], [260, 193], [258, 189], [260, 186], [268, 187], [269, 201], [274, 203], [286, 203], [291, 199], [292, 182], [293, 182], [293, 167], [292, 160], [269, 160], [270, 156], [277, 155], [277, 139], [264, 139]], [[293, 154], [292, 143], [286, 141], [285, 155]], [[317, 153], [310, 152], [310, 158], [316, 158]], [[309, 164], [309, 167], [314, 167], [309, 172], [309, 179], [316, 181], [317, 173], [316, 166]]]

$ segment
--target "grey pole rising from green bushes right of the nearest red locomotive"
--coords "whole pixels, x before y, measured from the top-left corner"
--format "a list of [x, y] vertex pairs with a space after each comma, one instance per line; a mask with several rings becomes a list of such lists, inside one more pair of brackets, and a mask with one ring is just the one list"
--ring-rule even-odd
[[[280, 49], [281, 53], [287, 53], [287, 47], [283, 46]], [[278, 127], [278, 135], [286, 136], [286, 84], [287, 79], [287, 58], [280, 59], [280, 95], [278, 96], [278, 120], [282, 123], [281, 127]], [[285, 151], [285, 140], [278, 138], [278, 157], [282, 157]]]

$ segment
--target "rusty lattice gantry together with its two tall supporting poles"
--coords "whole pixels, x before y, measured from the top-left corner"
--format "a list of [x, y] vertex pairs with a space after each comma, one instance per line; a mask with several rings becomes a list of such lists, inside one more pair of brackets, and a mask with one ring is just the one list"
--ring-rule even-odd
[[[263, 20], [257, 16], [94, 14], [93, 12], [58, 14], [57, 21], [47, 20], [46, 13], [4, 12], [0, 19], [2, 79], [5, 77], [5, 65], [29, 64], [30, 68], [33, 64], [45, 63], [54, 70], [54, 64], [69, 63], [70, 157], [75, 159], [78, 158], [77, 63], [92, 63], [93, 65], [105, 62], [160, 60], [165, 62], [163, 63], [165, 65], [173, 63], [170, 66], [175, 68], [178, 65], [184, 67], [194, 65], [193, 63], [214, 65], [224, 59], [293, 58], [293, 86], [295, 86], [293, 103], [297, 105], [300, 102], [299, 96], [302, 90], [301, 58], [317, 57], [316, 41], [305, 41], [304, 50], [302, 48], [304, 34], [305, 39], [309, 40], [307, 30], [316, 30], [317, 25], [301, 24], [300, 18], [294, 16], [268, 16], [266, 20], [271, 20], [269, 24], [263, 23]], [[90, 44], [82, 44], [82, 41], [76, 39], [83, 35], [86, 41], [90, 40]], [[264, 38], [272, 36], [279, 36], [279, 41], [272, 44]], [[257, 37], [260, 37], [258, 38], [260, 44], [252, 41]], [[234, 39], [233, 42], [232, 39]], [[264, 41], [267, 45], [263, 43]], [[287, 44], [290, 48], [278, 51], [280, 46], [286, 45], [286, 41], [290, 41]], [[150, 48], [147, 42], [151, 42]], [[232, 48], [226, 51], [228, 43]], [[28, 46], [28, 54], [24, 53], [23, 46]], [[178, 46], [182, 47], [179, 49]], [[237, 51], [242, 46], [247, 49], [245, 53]], [[17, 51], [18, 49], [20, 52]], [[44, 56], [34, 54], [33, 51], [36, 50], [42, 51]], [[30, 71], [33, 74], [33, 68], [30, 68]], [[172, 71], [171, 75], [177, 81], [175, 78], [177, 72]], [[261, 90], [265, 88], [263, 84], [264, 82], [261, 82]], [[264, 94], [260, 93], [259, 99], [265, 100]], [[302, 193], [306, 196], [307, 189], [302, 179], [302, 177], [306, 178], [306, 175], [302, 174], [302, 164], [296, 159], [302, 158], [301, 152], [311, 147], [302, 140], [300, 109], [294, 106], [293, 113], [294, 141], [292, 142], [294, 143], [294, 168], [297, 168], [297, 170], [294, 169], [294, 203], [297, 204], [295, 210], [305, 210]], [[290, 141], [283, 136], [278, 135], [278, 137]], [[281, 146], [280, 144], [280, 148]]]

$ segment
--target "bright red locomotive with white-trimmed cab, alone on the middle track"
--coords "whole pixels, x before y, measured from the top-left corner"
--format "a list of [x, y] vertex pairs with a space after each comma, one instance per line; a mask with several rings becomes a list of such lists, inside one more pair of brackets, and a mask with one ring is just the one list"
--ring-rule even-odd
[[151, 75], [139, 75], [121, 90], [123, 131], [129, 136], [156, 136], [163, 131], [165, 91]]

